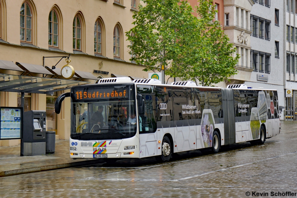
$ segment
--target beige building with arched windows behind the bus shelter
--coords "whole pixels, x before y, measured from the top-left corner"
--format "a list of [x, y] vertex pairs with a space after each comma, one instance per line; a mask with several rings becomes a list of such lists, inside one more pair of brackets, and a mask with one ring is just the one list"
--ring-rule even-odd
[[[130, 43], [125, 36], [132, 28], [132, 15], [139, 3], [139, 0], [0, 0], [0, 74], [62, 79], [61, 73], [50, 71], [60, 58], [44, 58], [43, 62], [43, 57], [70, 54], [70, 64], [76, 71], [72, 80], [81, 83], [121, 75], [147, 78], [142, 66], [129, 61]], [[66, 64], [64, 60], [56, 68], [61, 69]], [[21, 70], [5, 67], [11, 63], [17, 63]], [[32, 65], [48, 66], [51, 75], [31, 71], [28, 68]], [[0, 91], [1, 88], [0, 84]], [[25, 111], [46, 110], [47, 130], [56, 131], [60, 139], [69, 139], [70, 99], [64, 101], [59, 115], [53, 113], [53, 104], [57, 95], [67, 91], [25, 94]], [[1, 106], [20, 106], [20, 93], [1, 91], [0, 95]], [[0, 146], [17, 145], [19, 141], [0, 140]]]

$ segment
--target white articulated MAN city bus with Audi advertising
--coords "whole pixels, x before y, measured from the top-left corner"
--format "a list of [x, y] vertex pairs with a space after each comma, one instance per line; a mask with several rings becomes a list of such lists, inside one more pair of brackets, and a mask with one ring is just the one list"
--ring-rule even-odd
[[250, 141], [280, 132], [276, 90], [161, 84], [156, 79], [107, 78], [78, 85], [71, 97], [70, 158], [144, 158]]

